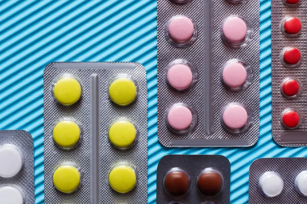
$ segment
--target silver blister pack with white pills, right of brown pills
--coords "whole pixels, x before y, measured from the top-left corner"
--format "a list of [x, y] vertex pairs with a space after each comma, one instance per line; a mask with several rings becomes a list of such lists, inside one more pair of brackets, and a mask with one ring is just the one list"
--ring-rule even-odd
[[249, 203], [307, 203], [307, 158], [259, 158], [249, 171]]

